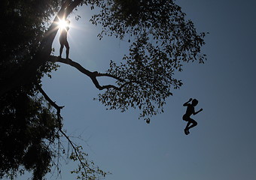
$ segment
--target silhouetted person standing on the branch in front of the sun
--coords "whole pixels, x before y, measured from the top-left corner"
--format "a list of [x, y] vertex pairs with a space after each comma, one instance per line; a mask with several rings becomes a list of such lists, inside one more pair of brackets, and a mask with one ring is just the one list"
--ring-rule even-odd
[[66, 26], [65, 27], [60, 27], [60, 35], [59, 35], [59, 43], [60, 43], [60, 48], [59, 48], [59, 57], [61, 58], [62, 55], [62, 50], [63, 47], [66, 47], [66, 58], [69, 58], [69, 43], [68, 43], [68, 31], [69, 31], [69, 24], [70, 21], [66, 20]]

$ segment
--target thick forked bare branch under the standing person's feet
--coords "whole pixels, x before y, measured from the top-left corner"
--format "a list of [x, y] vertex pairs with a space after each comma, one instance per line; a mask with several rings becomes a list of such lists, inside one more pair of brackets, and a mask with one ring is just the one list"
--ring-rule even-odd
[[60, 57], [51, 55], [50, 56], [50, 62], [61, 62], [61, 63], [64, 63], [66, 65], [73, 66], [74, 68], [78, 69], [78, 71], [80, 71], [81, 73], [90, 77], [90, 79], [93, 81], [93, 84], [99, 90], [102, 90], [102, 89], [116, 89], [117, 91], [120, 91], [123, 88], [123, 86], [126, 86], [127, 84], [130, 84], [130, 83], [135, 83], [135, 82], [123, 83], [123, 85], [120, 86], [120, 87], [117, 87], [117, 86], [114, 86], [114, 85], [100, 86], [98, 80], [96, 80], [96, 77], [111, 77], [111, 78], [114, 78], [115, 80], [119, 80], [120, 82], [124, 82], [124, 80], [120, 79], [119, 77], [115, 77], [114, 75], [111, 75], [111, 74], [101, 74], [101, 73], [98, 73], [97, 71], [94, 71], [94, 72], [88, 71], [87, 69], [82, 67], [77, 62], [73, 62], [70, 58], [66, 59], [66, 58], [60, 58]]

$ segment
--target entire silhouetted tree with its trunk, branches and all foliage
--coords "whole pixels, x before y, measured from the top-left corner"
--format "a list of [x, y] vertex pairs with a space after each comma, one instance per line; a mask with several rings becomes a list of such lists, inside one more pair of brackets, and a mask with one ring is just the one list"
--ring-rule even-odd
[[[97, 7], [90, 22], [102, 26], [99, 39], [108, 35], [130, 43], [130, 53], [120, 63], [111, 61], [103, 74], [51, 55], [57, 16], [67, 17], [79, 6]], [[106, 175], [62, 130], [62, 107], [41, 87], [41, 77], [56, 71], [56, 62], [72, 65], [90, 77], [102, 90], [98, 100], [109, 109], [137, 107], [149, 123], [152, 115], [163, 112], [172, 89], [182, 85], [174, 74], [182, 71], [183, 63], [205, 61], [200, 52], [205, 33], [197, 33], [175, 1], [2, 0], [0, 8], [5, 22], [0, 30], [0, 178], [28, 170], [34, 179], [41, 179], [58, 166], [61, 153], [79, 162], [72, 171], [80, 173], [79, 178]], [[116, 85], [99, 85], [96, 77], [103, 76], [116, 80]], [[60, 138], [68, 140], [72, 152], [62, 149]]]

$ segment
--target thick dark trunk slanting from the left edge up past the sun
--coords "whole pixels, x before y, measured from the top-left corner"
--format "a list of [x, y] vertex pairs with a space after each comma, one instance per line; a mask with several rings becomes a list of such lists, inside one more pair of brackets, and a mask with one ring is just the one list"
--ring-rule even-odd
[[35, 80], [35, 76], [38, 72], [38, 68], [41, 65], [44, 65], [47, 62], [47, 59], [50, 57], [50, 52], [53, 44], [53, 40], [58, 31], [57, 21], [58, 17], [68, 17], [72, 10], [75, 9], [78, 5], [81, 5], [83, 0], [66, 0], [56, 17], [51, 23], [50, 27], [44, 33], [44, 37], [41, 40], [41, 44], [39, 47], [39, 51], [35, 54], [31, 62], [28, 62], [28, 65], [23, 66], [23, 68], [18, 68], [17, 71], [9, 71], [4, 80], [0, 80], [0, 96], [4, 95], [6, 92], [11, 91], [12, 89], [17, 88], [18, 86], [25, 85], [27, 83], [31, 83]]

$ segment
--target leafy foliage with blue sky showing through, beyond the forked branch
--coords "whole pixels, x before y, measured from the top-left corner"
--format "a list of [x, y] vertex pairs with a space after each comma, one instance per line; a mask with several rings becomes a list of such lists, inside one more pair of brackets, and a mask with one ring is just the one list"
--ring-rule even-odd
[[182, 63], [199, 60], [205, 33], [197, 34], [194, 23], [185, 20], [185, 13], [174, 1], [108, 1], [99, 14], [91, 19], [102, 24], [99, 34], [114, 35], [123, 39], [128, 35], [130, 54], [124, 55], [123, 62], [111, 62], [108, 73], [119, 77], [119, 86], [133, 82], [121, 91], [108, 89], [99, 95], [99, 101], [110, 109], [127, 110], [139, 107], [140, 117], [149, 117], [163, 112], [166, 98], [172, 89], [182, 83], [173, 77], [175, 71], [182, 71]]

